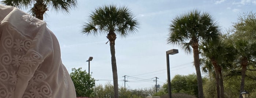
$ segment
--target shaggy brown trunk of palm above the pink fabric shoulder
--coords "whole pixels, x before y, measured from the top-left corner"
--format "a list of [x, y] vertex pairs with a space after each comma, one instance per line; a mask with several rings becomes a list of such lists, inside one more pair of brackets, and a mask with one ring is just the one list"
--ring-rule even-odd
[[36, 0], [36, 4], [34, 4], [34, 7], [31, 8], [31, 11], [35, 15], [36, 18], [43, 20], [44, 19], [44, 13], [47, 11], [47, 6], [44, 4], [43, 0]]

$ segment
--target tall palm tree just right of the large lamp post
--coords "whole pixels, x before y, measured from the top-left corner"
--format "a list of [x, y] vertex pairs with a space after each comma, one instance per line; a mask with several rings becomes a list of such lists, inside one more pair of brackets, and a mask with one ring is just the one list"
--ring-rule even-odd
[[188, 14], [182, 14], [174, 18], [169, 31], [170, 34], [167, 38], [168, 44], [181, 46], [187, 53], [191, 53], [193, 49], [199, 98], [203, 98], [203, 81], [200, 71], [198, 48], [201, 41], [218, 41], [220, 36], [219, 26], [208, 13], [193, 10]]

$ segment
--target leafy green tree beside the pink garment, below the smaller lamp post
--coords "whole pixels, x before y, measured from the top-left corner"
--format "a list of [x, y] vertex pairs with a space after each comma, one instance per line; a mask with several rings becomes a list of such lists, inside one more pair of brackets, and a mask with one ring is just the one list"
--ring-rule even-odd
[[72, 68], [70, 76], [73, 80], [77, 97], [93, 97], [94, 78], [89, 73], [82, 71], [82, 68]]

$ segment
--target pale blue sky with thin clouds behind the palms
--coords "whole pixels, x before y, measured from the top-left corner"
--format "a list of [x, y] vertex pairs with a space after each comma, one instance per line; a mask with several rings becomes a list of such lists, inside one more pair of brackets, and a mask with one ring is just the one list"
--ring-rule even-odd
[[[256, 0], [78, 0], [77, 8], [69, 14], [55, 12], [49, 8], [44, 20], [59, 40], [62, 62], [71, 72], [81, 67], [90, 72], [97, 85], [112, 84], [111, 54], [107, 34], [87, 36], [81, 33], [82, 25], [88, 22], [95, 8], [105, 4], [127, 6], [140, 22], [135, 34], [126, 38], [117, 36], [115, 43], [119, 87], [127, 89], [152, 88], [156, 82], [162, 86], [167, 82], [166, 51], [178, 49], [170, 55], [171, 78], [175, 75], [195, 73], [193, 54], [187, 54], [178, 46], [168, 45], [168, 27], [176, 16], [194, 9], [208, 12], [220, 26], [222, 32], [237, 22], [243, 12], [255, 12]], [[202, 73], [204, 75], [204, 73]]]

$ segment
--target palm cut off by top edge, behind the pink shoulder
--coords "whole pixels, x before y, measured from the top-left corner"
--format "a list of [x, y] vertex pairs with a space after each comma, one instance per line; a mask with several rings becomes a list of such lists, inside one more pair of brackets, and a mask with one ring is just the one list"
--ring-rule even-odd
[[48, 6], [55, 11], [69, 12], [71, 8], [77, 7], [77, 0], [3, 0], [1, 3], [13, 7], [28, 8], [30, 13], [36, 18], [43, 20], [45, 11], [48, 11]]

